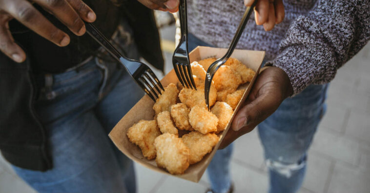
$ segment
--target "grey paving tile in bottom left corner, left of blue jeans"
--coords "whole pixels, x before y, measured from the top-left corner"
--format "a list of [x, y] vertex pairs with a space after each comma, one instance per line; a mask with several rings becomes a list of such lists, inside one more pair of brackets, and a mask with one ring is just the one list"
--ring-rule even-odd
[[0, 193], [36, 193], [20, 178], [7, 172], [0, 173]]

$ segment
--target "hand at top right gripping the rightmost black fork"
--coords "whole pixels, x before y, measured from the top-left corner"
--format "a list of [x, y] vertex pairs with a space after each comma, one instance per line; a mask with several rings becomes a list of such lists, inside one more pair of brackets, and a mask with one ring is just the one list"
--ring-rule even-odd
[[[244, 0], [246, 6], [251, 6], [254, 0]], [[283, 0], [258, 0], [254, 7], [254, 18], [257, 25], [264, 25], [266, 31], [283, 21], [285, 16]]]

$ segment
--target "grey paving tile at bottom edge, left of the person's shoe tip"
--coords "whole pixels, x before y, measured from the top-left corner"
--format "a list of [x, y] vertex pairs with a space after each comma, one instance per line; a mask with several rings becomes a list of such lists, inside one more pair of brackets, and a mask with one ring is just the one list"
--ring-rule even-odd
[[168, 176], [155, 193], [203, 193], [207, 187], [181, 178]]

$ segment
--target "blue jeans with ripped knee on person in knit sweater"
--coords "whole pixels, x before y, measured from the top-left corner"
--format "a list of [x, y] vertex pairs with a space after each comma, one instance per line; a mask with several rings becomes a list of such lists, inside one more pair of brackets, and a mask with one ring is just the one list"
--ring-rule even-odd
[[[197, 45], [211, 46], [189, 35], [189, 50]], [[306, 171], [307, 150], [326, 111], [328, 85], [310, 85], [302, 93], [287, 98], [258, 125], [269, 170], [269, 193], [295, 193]], [[216, 152], [207, 173], [215, 193], [225, 193], [231, 184], [232, 144]]]

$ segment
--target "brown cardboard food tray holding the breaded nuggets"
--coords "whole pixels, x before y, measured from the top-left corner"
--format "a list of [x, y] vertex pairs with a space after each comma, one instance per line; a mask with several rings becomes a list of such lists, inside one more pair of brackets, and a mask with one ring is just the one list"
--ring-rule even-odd
[[[226, 51], [227, 49], [225, 48], [211, 48], [198, 46], [192, 52], [190, 52], [189, 58], [190, 62], [199, 61], [201, 59], [210, 57], [220, 58], [226, 53]], [[241, 62], [243, 62], [243, 64], [247, 65], [247, 67], [253, 69], [256, 72], [256, 75], [253, 77], [249, 85], [248, 86], [247, 84], [244, 85], [244, 87], [247, 87], [247, 89], [243, 95], [242, 101], [244, 101], [244, 99], [248, 96], [250, 89], [257, 75], [259, 74], [264, 56], [265, 52], [263, 51], [249, 51], [249, 50], [234, 50], [231, 56], [231, 58], [239, 59]], [[164, 87], [166, 87], [171, 82], [176, 84], [178, 82], [178, 79], [176, 77], [174, 70], [172, 69], [171, 72], [169, 72], [161, 80], [161, 82]], [[243, 85], [241, 85], [241, 87], [243, 87]], [[109, 133], [109, 137], [112, 139], [113, 143], [118, 147], [118, 149], [121, 150], [123, 154], [125, 154], [133, 161], [143, 165], [146, 168], [160, 172], [162, 174], [172, 175], [169, 174], [164, 169], [158, 168], [155, 159], [153, 160], [146, 159], [142, 154], [140, 148], [135, 144], [131, 143], [126, 135], [127, 129], [130, 128], [134, 123], [137, 123], [139, 120], [142, 119], [153, 120], [154, 116], [153, 105], [154, 105], [153, 100], [150, 99], [150, 97], [148, 97], [147, 95], [145, 95], [139, 102], [136, 103], [134, 107], [132, 107], [132, 109], [125, 116], [123, 116], [123, 118]], [[232, 119], [235, 116], [235, 112], [238, 111], [240, 105], [241, 103], [239, 103], [237, 108], [235, 109], [234, 114], [229, 124], [227, 125], [225, 131], [219, 134], [220, 140], [218, 144], [213, 148], [212, 152], [206, 154], [200, 162], [190, 165], [184, 174], [174, 176], [190, 180], [193, 182], [198, 182], [201, 179], [213, 155], [216, 153], [216, 150], [220, 146], [221, 141], [223, 140], [226, 132], [230, 128], [231, 125], [230, 123], [232, 122]]]

